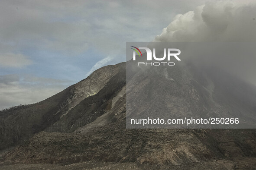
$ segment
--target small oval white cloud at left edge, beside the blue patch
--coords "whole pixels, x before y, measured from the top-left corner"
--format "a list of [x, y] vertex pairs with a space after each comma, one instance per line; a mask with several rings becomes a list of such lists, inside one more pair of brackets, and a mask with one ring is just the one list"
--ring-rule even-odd
[[31, 65], [32, 63], [32, 60], [23, 54], [0, 54], [0, 66], [2, 67], [23, 68]]

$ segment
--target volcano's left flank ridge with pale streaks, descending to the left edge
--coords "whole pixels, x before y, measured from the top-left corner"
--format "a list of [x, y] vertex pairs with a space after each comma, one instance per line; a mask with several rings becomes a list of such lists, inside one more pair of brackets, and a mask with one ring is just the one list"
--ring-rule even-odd
[[62, 131], [63, 126], [58, 121], [64, 119], [82, 100], [95, 96], [124, 68], [125, 63], [102, 67], [81, 82], [44, 101], [1, 110], [0, 150], [16, 145], [42, 130]]

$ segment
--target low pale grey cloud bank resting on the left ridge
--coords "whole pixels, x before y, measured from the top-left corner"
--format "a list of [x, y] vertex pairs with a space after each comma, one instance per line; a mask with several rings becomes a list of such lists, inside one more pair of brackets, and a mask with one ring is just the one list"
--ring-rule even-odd
[[69, 80], [48, 79], [33, 75], [0, 76], [0, 110], [19, 104], [42, 101], [72, 83]]

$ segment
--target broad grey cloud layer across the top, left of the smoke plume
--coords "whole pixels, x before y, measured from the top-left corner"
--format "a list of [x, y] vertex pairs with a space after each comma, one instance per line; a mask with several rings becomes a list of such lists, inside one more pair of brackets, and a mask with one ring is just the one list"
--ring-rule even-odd
[[120, 48], [123, 53], [126, 41], [152, 41], [175, 13], [204, 1], [3, 0], [1, 52], [33, 47], [71, 55], [94, 47], [106, 55]]

